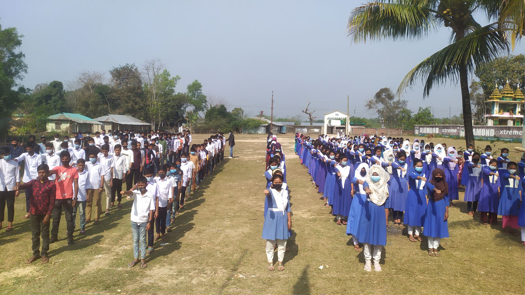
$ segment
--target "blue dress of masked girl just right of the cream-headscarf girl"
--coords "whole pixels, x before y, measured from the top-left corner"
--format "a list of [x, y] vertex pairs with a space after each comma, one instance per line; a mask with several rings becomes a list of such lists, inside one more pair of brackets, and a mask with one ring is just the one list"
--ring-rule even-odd
[[388, 187], [389, 207], [395, 211], [404, 211], [408, 196], [408, 174], [407, 171], [401, 171], [398, 167], [408, 170], [408, 164], [400, 164], [397, 160], [392, 163], [392, 177]]

